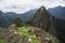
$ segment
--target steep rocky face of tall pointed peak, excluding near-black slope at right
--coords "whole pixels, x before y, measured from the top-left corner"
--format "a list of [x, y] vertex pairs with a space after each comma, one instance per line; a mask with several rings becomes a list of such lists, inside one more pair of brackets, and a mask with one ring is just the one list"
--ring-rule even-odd
[[41, 6], [35, 14], [31, 19], [32, 25], [43, 28], [46, 31], [55, 34], [54, 20], [51, 14], [46, 10], [44, 6]]

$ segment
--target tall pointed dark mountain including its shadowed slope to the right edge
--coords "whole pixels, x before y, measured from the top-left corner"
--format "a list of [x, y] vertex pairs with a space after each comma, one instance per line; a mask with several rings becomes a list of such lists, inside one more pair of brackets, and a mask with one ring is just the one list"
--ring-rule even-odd
[[65, 43], [65, 20], [52, 16], [44, 6], [38, 9], [30, 22], [30, 25], [44, 29]]

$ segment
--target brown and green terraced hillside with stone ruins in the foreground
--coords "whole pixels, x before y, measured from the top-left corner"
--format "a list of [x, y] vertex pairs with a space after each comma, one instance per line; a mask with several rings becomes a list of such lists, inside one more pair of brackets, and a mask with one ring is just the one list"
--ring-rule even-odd
[[60, 43], [55, 37], [37, 27], [10, 28], [0, 28], [1, 43]]

